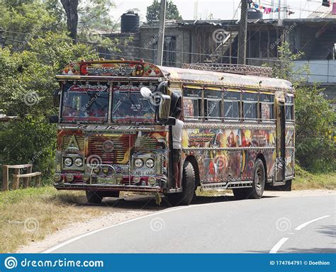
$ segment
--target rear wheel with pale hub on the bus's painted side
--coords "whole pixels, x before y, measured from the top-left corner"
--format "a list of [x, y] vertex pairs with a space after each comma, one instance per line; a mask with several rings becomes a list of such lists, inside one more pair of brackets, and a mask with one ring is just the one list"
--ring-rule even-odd
[[266, 173], [264, 163], [261, 159], [256, 159], [254, 162], [254, 177], [252, 188], [247, 188], [249, 191], [249, 198], [259, 199], [262, 198], [262, 194], [264, 193], [266, 181]]

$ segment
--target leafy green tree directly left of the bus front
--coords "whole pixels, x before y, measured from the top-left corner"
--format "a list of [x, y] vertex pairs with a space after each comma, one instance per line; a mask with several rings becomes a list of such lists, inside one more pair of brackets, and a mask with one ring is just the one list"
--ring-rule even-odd
[[74, 45], [65, 34], [45, 33], [43, 38], [31, 38], [28, 45], [21, 52], [0, 48], [0, 108], [19, 116], [0, 123], [0, 164], [33, 162], [34, 171], [43, 172], [47, 180], [55, 169], [57, 130], [48, 122], [56, 113], [52, 92], [60, 88], [55, 74], [69, 62], [99, 55], [89, 45]]

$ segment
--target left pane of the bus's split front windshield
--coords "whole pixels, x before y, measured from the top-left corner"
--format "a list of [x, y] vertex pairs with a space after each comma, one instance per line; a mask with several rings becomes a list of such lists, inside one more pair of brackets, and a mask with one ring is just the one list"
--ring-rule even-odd
[[65, 122], [106, 122], [108, 118], [108, 86], [65, 84], [62, 120]]

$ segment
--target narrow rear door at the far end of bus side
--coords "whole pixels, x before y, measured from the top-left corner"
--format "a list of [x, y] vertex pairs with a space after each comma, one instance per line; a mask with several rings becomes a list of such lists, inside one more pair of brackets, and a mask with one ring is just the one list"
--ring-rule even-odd
[[284, 93], [276, 96], [276, 162], [274, 185], [286, 183], [286, 109]]

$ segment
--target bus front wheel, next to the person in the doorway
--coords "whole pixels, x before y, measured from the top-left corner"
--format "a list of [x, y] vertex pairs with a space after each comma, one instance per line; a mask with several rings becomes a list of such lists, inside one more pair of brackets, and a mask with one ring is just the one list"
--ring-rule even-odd
[[172, 206], [189, 205], [195, 193], [195, 170], [191, 162], [184, 162], [182, 174], [182, 193], [167, 194], [168, 202]]

